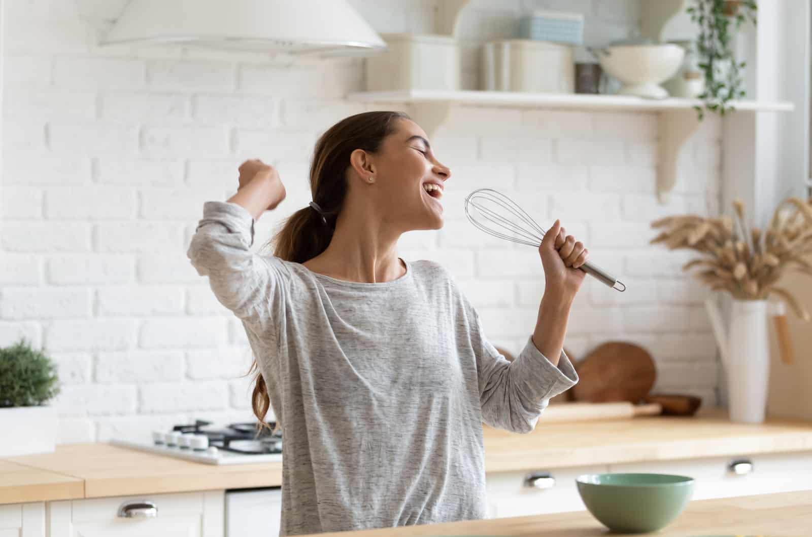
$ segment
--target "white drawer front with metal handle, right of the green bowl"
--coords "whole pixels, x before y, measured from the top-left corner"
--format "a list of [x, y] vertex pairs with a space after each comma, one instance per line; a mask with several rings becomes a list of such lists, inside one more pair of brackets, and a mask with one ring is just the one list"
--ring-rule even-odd
[[633, 462], [612, 464], [609, 469], [615, 473], [654, 472], [693, 477], [693, 500], [812, 489], [812, 453]]

